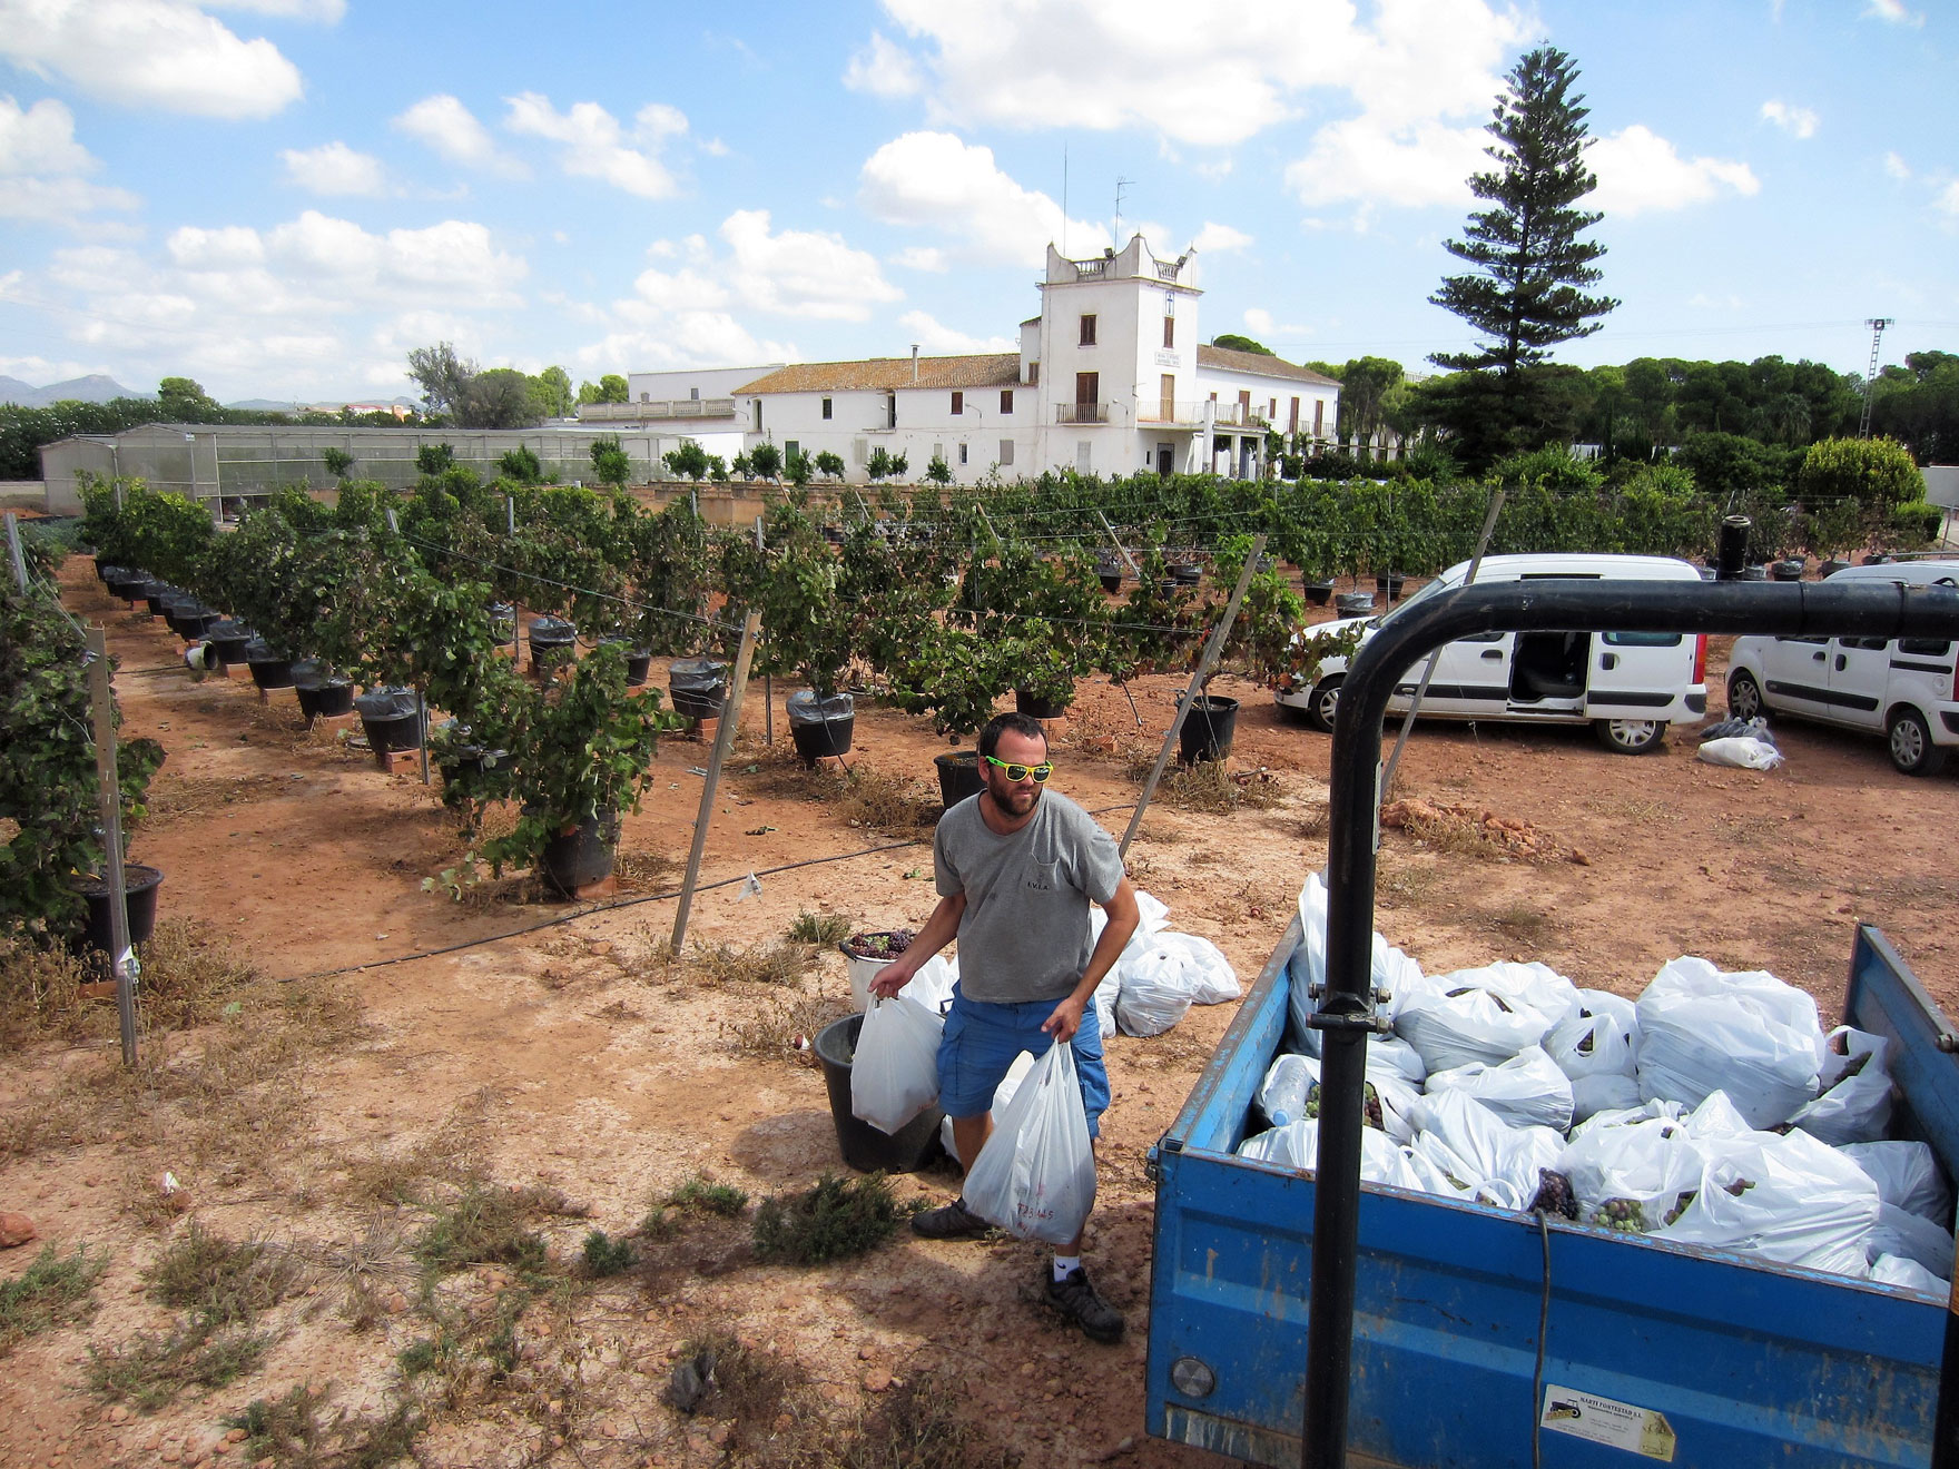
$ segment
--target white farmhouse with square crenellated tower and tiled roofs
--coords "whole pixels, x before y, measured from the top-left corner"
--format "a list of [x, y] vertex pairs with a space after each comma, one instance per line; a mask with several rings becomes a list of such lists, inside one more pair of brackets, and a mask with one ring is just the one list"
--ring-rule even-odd
[[1203, 345], [1195, 276], [1195, 253], [1160, 261], [1142, 235], [1093, 261], [1050, 245], [1040, 315], [1021, 323], [1019, 353], [913, 349], [764, 372], [733, 388], [744, 447], [829, 450], [856, 484], [880, 449], [905, 458], [907, 480], [944, 458], [958, 484], [1050, 468], [1256, 478], [1267, 429], [1316, 449], [1334, 429], [1340, 384]]

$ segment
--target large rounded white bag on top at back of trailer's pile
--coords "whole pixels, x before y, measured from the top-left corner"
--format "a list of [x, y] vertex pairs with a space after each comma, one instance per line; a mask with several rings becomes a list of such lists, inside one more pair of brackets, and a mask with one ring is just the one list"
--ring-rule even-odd
[[1816, 1001], [1761, 970], [1706, 960], [1661, 966], [1638, 1003], [1640, 1095], [1698, 1107], [1726, 1091], [1749, 1126], [1773, 1128], [1816, 1095], [1824, 1032]]

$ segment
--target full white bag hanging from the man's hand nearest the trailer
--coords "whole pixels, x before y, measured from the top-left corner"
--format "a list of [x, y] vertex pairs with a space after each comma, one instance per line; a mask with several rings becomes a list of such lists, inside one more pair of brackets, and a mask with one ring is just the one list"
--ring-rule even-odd
[[1075, 1048], [1054, 1042], [993, 1120], [966, 1173], [966, 1207], [1023, 1240], [1072, 1244], [1095, 1207], [1089, 1114]]

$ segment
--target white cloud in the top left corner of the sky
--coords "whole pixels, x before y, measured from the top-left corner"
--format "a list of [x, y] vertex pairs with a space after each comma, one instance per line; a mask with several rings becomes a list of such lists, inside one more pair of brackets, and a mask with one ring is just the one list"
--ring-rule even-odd
[[270, 118], [304, 92], [276, 45], [184, 0], [0, 0], [0, 57], [108, 102], [200, 118]]

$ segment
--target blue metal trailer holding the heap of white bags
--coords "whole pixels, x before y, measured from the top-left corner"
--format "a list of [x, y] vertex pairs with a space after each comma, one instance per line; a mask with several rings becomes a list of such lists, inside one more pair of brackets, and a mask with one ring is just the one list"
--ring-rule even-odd
[[[1152, 1152], [1148, 1430], [1267, 1465], [1301, 1457], [1316, 1181], [1234, 1150], [1262, 1126], [1299, 932]], [[1843, 1022], [1890, 1038], [1898, 1136], [1959, 1173], [1953, 1028], [1875, 928]], [[1943, 1301], [1373, 1183], [1360, 1242], [1356, 1461], [1499, 1469], [1534, 1442], [1575, 1467], [1930, 1461]]]

